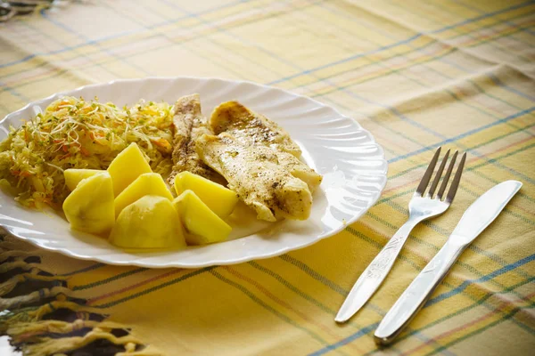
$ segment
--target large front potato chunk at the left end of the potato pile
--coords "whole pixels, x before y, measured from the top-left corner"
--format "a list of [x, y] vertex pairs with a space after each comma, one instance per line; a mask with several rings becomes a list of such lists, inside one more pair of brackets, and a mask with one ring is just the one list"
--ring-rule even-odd
[[104, 171], [79, 182], [63, 202], [63, 212], [74, 230], [94, 234], [111, 231], [115, 209], [110, 174]]

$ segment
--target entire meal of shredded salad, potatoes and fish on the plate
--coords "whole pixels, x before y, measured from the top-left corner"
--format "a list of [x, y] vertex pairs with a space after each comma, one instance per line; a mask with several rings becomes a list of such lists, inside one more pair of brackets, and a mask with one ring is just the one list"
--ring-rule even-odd
[[300, 154], [237, 101], [208, 120], [199, 94], [122, 109], [63, 97], [0, 143], [0, 183], [25, 206], [62, 206], [72, 229], [116, 246], [184, 247], [226, 240], [239, 200], [260, 220], [307, 219], [322, 177]]

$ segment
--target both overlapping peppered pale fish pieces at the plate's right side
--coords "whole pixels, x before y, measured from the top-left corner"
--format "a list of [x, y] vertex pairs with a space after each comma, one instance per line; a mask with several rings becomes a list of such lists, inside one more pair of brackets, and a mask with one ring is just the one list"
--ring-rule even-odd
[[322, 177], [299, 160], [301, 150], [290, 134], [237, 101], [214, 109], [209, 126], [213, 134], [197, 139], [197, 153], [259, 219], [309, 217], [311, 194]]

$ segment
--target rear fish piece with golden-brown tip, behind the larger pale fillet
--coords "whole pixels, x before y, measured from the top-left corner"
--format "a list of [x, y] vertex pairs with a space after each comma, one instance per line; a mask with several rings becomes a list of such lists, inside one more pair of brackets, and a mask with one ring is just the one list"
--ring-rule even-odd
[[224, 102], [214, 109], [209, 125], [214, 134], [232, 134], [244, 144], [261, 144], [300, 157], [299, 146], [281, 126], [237, 101]]

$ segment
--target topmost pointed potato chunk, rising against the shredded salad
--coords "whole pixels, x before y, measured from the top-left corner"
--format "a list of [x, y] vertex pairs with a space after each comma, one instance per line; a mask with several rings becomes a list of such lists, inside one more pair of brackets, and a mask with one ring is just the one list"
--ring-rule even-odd
[[138, 176], [144, 173], [152, 173], [152, 169], [136, 143], [131, 143], [116, 158], [113, 158], [108, 167], [108, 172], [113, 181], [113, 192], [117, 197], [131, 182], [136, 181]]

